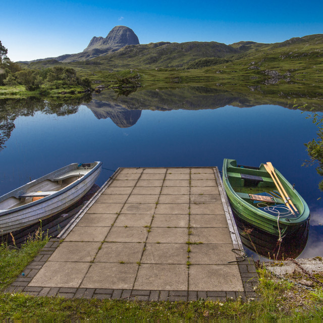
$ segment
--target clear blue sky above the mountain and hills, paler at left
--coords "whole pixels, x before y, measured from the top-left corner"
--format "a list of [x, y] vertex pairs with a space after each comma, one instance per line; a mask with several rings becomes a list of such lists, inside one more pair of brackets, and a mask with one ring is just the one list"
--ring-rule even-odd
[[37, 1], [0, 6], [0, 40], [12, 61], [83, 51], [93, 36], [127, 26], [158, 41], [280, 42], [323, 33], [323, 1]]

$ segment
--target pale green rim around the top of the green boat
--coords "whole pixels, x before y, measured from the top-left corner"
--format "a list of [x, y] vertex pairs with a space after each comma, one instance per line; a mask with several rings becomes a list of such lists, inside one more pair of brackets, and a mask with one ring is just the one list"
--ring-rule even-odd
[[[250, 205], [249, 203], [247, 203], [246, 201], [244, 201], [237, 193], [236, 191], [232, 188], [230, 181], [229, 181], [229, 177], [227, 176], [227, 168], [228, 168], [228, 160], [235, 160], [235, 159], [229, 159], [229, 158], [225, 158], [224, 159], [224, 163], [223, 163], [223, 177], [224, 179], [225, 176], [227, 177], [227, 180], [224, 180], [225, 185], [228, 187], [228, 189], [230, 190], [230, 192], [234, 195], [234, 197], [242, 204], [243, 207], [247, 208], [250, 212], [256, 213], [258, 214], [258, 216], [261, 216], [262, 218], [267, 219], [270, 222], [276, 222], [277, 223], [277, 217], [272, 216], [271, 214], [268, 214], [262, 210], [257, 209], [256, 207], [254, 207], [253, 205]], [[260, 167], [263, 164], [260, 164]], [[291, 187], [290, 183], [287, 181], [287, 179], [276, 169], [275, 172], [277, 172], [277, 174], [279, 175], [279, 177], [287, 184]], [[306, 204], [305, 200], [301, 197], [301, 195], [295, 190], [293, 189], [295, 192], [295, 195], [297, 196], [297, 198], [299, 199], [299, 201], [303, 204], [304, 210], [303, 212], [299, 215], [299, 217], [295, 218], [295, 219], [289, 219], [289, 221], [287, 221], [287, 219], [284, 218], [280, 218], [279, 222], [285, 226], [291, 227], [291, 226], [295, 226], [295, 225], [300, 225], [302, 223], [304, 223], [308, 218], [309, 218], [309, 208], [308, 205]], [[235, 207], [234, 207], [235, 208]], [[246, 217], [246, 216], [245, 216]], [[305, 218], [306, 217], [306, 218]], [[248, 218], [248, 217], [246, 217]], [[251, 219], [250, 219], [251, 220]]]

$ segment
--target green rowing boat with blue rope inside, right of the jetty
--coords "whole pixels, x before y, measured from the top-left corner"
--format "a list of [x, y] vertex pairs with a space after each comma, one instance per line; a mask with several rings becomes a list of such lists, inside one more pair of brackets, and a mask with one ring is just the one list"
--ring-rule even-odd
[[294, 212], [277, 191], [265, 167], [265, 164], [260, 167], [242, 166], [237, 165], [234, 159], [224, 159], [223, 184], [231, 206], [238, 217], [265, 232], [277, 236], [291, 233], [308, 220], [309, 208], [286, 178], [275, 169], [277, 178], [298, 210]]

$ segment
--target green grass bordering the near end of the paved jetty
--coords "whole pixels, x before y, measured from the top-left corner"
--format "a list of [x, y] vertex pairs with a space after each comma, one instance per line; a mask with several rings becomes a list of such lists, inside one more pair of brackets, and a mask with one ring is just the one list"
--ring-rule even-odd
[[[1, 245], [1, 289], [19, 275], [47, 242], [38, 233], [20, 250]], [[188, 246], [188, 249], [190, 247]], [[188, 251], [189, 252], [189, 251]], [[124, 263], [124, 261], [120, 261]], [[140, 265], [140, 262], [137, 262]], [[190, 262], [187, 262], [190, 265]], [[4, 322], [321, 322], [323, 291], [299, 290], [258, 270], [260, 300], [142, 302], [137, 300], [65, 299], [0, 292], [0, 321]], [[295, 278], [295, 277], [294, 277]], [[322, 276], [316, 278], [322, 280]]]

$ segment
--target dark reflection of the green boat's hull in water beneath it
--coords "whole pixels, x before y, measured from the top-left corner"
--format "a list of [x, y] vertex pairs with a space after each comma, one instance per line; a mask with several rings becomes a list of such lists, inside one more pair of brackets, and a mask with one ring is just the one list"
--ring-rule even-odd
[[279, 250], [278, 237], [253, 227], [249, 223], [241, 220], [236, 214], [234, 214], [234, 219], [242, 244], [264, 258], [281, 260], [284, 257], [285, 259], [295, 259], [302, 253], [306, 246], [309, 233], [308, 222], [303, 224], [293, 234], [283, 237]]

